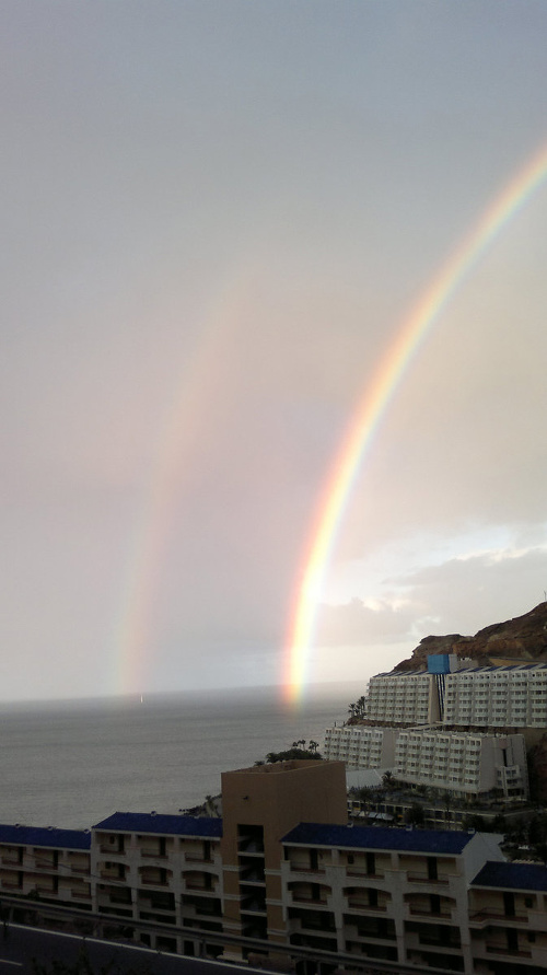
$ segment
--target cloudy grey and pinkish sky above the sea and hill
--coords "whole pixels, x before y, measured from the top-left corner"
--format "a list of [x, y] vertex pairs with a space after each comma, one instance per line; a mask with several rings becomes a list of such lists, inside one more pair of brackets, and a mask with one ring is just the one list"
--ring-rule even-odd
[[[544, 0], [4, 0], [0, 699], [282, 685], [356, 410], [547, 147]], [[547, 179], [363, 450], [304, 683], [546, 597]], [[304, 689], [304, 688], [301, 688]]]

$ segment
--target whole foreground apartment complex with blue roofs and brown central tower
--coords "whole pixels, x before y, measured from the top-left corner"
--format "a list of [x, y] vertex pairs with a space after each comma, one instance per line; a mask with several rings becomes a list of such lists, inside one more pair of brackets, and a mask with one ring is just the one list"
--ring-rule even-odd
[[223, 821], [0, 826], [2, 917], [61, 905], [72, 930], [303, 975], [547, 968], [547, 868], [507, 862], [501, 837], [348, 825], [340, 762], [225, 773], [222, 792]]

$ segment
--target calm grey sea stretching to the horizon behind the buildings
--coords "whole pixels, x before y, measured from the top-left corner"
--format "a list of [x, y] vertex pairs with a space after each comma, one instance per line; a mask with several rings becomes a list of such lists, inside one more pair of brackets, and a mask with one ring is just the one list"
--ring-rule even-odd
[[356, 685], [0, 704], [0, 823], [89, 828], [116, 811], [177, 813], [294, 741], [323, 744]]

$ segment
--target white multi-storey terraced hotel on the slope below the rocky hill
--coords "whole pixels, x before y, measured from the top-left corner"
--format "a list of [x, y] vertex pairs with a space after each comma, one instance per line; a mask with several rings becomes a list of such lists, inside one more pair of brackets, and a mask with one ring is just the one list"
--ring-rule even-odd
[[462, 797], [521, 799], [531, 728], [547, 728], [547, 664], [478, 668], [433, 655], [427, 671], [372, 677], [368, 723], [327, 729], [324, 754]]

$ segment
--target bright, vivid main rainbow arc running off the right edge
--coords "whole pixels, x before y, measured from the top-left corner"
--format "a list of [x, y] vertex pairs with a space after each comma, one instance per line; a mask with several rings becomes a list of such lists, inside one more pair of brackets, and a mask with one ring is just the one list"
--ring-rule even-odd
[[309, 676], [317, 608], [338, 531], [352, 488], [374, 434], [405, 374], [441, 312], [476, 267], [505, 224], [547, 176], [547, 147], [503, 187], [470, 232], [432, 279], [398, 328], [395, 339], [357, 404], [327, 478], [313, 522], [311, 541], [299, 577], [298, 595], [283, 651], [283, 696], [296, 701]]

